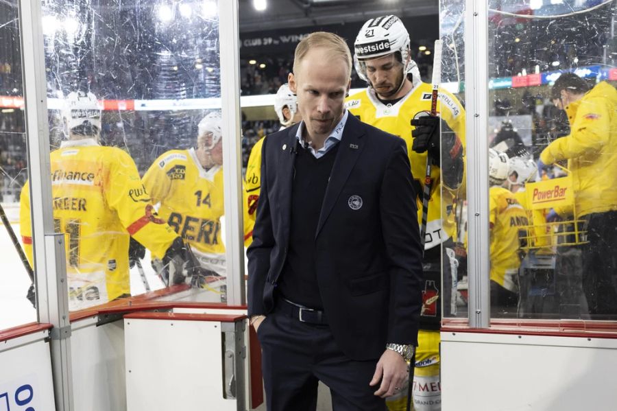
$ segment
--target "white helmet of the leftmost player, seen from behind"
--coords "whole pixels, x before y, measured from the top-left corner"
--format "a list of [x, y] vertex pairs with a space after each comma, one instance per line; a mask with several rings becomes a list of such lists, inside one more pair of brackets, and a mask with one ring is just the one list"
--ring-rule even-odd
[[93, 93], [69, 93], [64, 99], [62, 117], [69, 133], [97, 135], [101, 130], [101, 105]]

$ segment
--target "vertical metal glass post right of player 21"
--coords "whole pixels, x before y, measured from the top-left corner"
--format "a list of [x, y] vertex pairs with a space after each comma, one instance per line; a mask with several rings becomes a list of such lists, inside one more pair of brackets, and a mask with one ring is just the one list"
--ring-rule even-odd
[[487, 13], [487, 0], [465, 0], [469, 325], [474, 328], [489, 327], [491, 316]]

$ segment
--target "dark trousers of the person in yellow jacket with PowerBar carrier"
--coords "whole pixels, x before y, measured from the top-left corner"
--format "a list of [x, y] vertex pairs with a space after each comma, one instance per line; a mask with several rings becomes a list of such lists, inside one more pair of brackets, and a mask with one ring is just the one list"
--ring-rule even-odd
[[617, 318], [617, 211], [593, 213], [583, 246], [583, 290], [592, 319]]

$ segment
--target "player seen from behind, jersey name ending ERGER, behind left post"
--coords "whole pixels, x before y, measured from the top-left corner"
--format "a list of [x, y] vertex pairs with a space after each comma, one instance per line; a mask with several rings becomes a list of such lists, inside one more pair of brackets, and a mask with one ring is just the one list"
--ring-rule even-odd
[[[65, 234], [69, 309], [75, 310], [130, 296], [130, 236], [174, 272], [191, 259], [182, 239], [158, 218], [129, 154], [99, 145], [95, 95], [73, 92], [65, 103], [69, 138], [51, 152], [51, 193], [56, 232]], [[20, 202], [21, 235], [32, 264], [28, 184]]]

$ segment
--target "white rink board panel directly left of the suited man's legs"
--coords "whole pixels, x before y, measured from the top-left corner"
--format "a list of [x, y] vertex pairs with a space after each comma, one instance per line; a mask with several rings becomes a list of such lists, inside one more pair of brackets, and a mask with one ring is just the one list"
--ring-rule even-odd
[[237, 410], [223, 399], [220, 322], [124, 323], [128, 411]]

